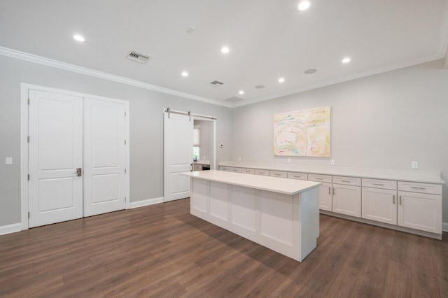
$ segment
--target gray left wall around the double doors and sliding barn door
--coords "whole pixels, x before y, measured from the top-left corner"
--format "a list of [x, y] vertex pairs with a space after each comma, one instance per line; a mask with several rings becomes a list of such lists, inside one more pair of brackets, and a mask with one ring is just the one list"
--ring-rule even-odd
[[[0, 226], [20, 222], [20, 83], [130, 101], [131, 202], [163, 197], [164, 108], [215, 116], [216, 141], [230, 144], [230, 108], [0, 55]], [[217, 161], [229, 159], [230, 146], [217, 149]]]

